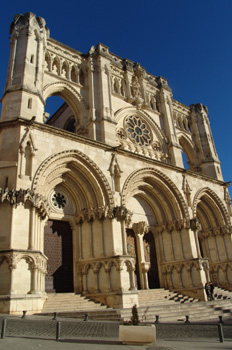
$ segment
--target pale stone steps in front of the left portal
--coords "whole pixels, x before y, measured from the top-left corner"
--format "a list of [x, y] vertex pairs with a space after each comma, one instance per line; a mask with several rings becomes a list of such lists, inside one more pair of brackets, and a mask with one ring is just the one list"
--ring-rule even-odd
[[40, 315], [48, 316], [54, 312], [60, 317], [84, 319], [88, 314], [90, 320], [120, 321], [116, 310], [74, 293], [49, 293]]

